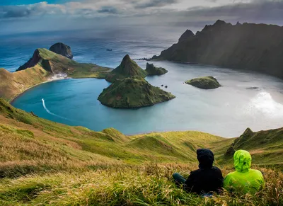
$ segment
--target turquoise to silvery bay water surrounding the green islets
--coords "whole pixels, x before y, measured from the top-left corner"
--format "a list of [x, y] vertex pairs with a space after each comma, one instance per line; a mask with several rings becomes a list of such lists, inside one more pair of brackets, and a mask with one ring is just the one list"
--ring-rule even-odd
[[[138, 62], [145, 68], [146, 62]], [[222, 137], [241, 135], [247, 127], [266, 130], [282, 127], [283, 81], [257, 73], [216, 67], [154, 62], [168, 69], [163, 76], [147, 77], [154, 86], [176, 98], [139, 109], [113, 109], [97, 100], [109, 83], [103, 79], [65, 79], [42, 84], [18, 97], [13, 105], [68, 125], [100, 131], [114, 127], [125, 134], [153, 131], [199, 130]], [[223, 85], [201, 90], [183, 84], [197, 76], [215, 76]], [[251, 88], [257, 87], [257, 88]], [[46, 109], [42, 105], [45, 100]]]

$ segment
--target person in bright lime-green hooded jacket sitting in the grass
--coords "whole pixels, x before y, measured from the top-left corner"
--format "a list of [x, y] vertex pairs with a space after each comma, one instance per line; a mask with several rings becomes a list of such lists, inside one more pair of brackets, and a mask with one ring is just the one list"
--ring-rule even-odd
[[265, 186], [262, 173], [250, 168], [252, 157], [248, 151], [236, 151], [233, 159], [236, 171], [229, 173], [224, 179], [226, 190], [253, 194]]

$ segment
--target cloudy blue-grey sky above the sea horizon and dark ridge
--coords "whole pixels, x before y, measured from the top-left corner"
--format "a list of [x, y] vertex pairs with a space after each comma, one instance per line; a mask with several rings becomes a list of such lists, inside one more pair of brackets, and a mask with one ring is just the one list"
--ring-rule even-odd
[[283, 0], [0, 0], [0, 33], [126, 25], [283, 25]]

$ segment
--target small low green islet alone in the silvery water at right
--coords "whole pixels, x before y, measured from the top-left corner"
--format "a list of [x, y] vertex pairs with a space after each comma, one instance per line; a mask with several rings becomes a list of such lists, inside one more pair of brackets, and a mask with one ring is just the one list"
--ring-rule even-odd
[[219, 88], [221, 86], [219, 82], [213, 76], [204, 76], [195, 79], [191, 79], [185, 82], [197, 88], [212, 89]]

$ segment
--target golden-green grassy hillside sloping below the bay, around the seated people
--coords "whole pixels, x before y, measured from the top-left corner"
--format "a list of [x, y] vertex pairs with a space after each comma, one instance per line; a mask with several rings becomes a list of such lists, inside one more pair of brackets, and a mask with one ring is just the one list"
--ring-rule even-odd
[[198, 148], [214, 151], [224, 175], [232, 171], [223, 160], [235, 140], [194, 131], [93, 132], [37, 118], [0, 99], [0, 205], [282, 205], [283, 174], [268, 168], [260, 168], [267, 183], [254, 196], [204, 199], [175, 187], [172, 173], [187, 176], [197, 168]]

